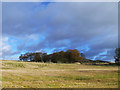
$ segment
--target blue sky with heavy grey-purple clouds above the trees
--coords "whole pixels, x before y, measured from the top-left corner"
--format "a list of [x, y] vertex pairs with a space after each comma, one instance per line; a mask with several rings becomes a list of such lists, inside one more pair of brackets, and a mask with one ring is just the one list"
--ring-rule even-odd
[[2, 58], [78, 49], [88, 59], [114, 61], [117, 15], [117, 2], [3, 2]]

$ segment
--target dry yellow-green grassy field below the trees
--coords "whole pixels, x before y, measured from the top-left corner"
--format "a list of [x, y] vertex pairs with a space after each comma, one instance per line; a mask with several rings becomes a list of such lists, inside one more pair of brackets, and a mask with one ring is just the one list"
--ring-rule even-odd
[[118, 88], [118, 66], [2, 61], [2, 88]]

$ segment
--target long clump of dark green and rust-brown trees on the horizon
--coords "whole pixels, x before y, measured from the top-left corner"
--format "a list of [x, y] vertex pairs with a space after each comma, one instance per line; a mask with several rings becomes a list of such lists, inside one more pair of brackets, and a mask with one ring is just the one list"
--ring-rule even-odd
[[35, 52], [25, 53], [19, 56], [21, 61], [33, 61], [33, 62], [53, 62], [53, 63], [74, 63], [80, 62], [85, 59], [85, 55], [80, 53], [77, 49], [69, 49], [66, 52], [54, 52], [52, 54]]

